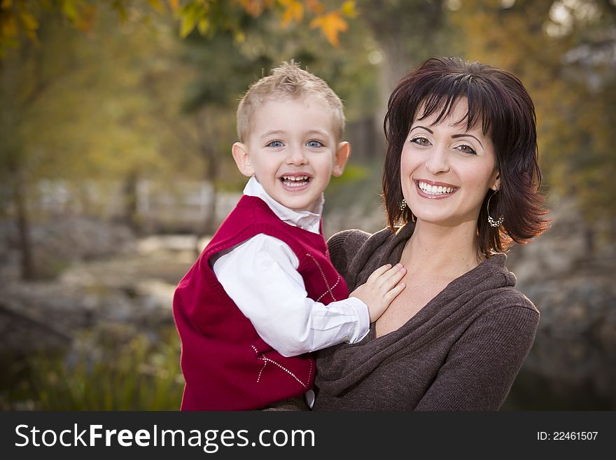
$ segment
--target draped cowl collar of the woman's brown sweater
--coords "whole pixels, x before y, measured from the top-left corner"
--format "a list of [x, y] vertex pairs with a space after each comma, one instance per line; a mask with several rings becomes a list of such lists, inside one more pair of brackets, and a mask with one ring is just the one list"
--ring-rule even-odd
[[[396, 232], [385, 228], [370, 236], [349, 265], [349, 273], [355, 275], [349, 288], [365, 283], [378, 267], [398, 263], [413, 230], [414, 225], [409, 223]], [[493, 293], [512, 288], [515, 277], [505, 268], [506, 258], [505, 254], [492, 256], [454, 279], [407, 323], [387, 335], [375, 339], [373, 323], [370, 333], [360, 342], [319, 351], [317, 362], [322, 364], [319, 365], [316, 384], [331, 393], [342, 393], [396, 351], [423, 346], [430, 337], [462, 321], [469, 309], [479, 308], [483, 302], [489, 303]]]

